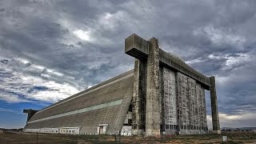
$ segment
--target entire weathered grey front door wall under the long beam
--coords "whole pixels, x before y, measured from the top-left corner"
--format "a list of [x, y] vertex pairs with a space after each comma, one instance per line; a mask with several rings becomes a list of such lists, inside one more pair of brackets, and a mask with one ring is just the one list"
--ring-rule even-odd
[[162, 134], [206, 133], [205, 88], [180, 72], [160, 67]]

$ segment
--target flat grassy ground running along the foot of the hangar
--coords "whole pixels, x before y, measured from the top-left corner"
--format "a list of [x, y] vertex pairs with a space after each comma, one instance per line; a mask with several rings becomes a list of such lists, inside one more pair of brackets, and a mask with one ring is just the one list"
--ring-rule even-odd
[[[228, 142], [222, 142], [222, 135], [228, 137]], [[10, 143], [256, 143], [256, 134], [250, 132], [229, 132], [222, 134], [200, 135], [170, 135], [162, 138], [148, 137], [118, 137], [115, 141], [112, 135], [69, 135], [69, 134], [37, 134], [3, 133], [0, 134], [0, 144]]]

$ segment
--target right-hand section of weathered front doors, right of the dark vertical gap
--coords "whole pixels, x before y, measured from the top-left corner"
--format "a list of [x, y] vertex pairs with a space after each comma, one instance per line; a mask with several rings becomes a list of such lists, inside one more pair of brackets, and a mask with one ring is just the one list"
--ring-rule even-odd
[[194, 79], [178, 72], [180, 134], [202, 134], [207, 131], [204, 90]]

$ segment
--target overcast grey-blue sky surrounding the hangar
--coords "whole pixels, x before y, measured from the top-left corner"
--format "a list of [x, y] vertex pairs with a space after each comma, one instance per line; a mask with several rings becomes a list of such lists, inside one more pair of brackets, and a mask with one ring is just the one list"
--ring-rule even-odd
[[221, 126], [256, 126], [255, 26], [255, 1], [1, 0], [0, 127], [133, 69], [134, 33], [216, 77]]

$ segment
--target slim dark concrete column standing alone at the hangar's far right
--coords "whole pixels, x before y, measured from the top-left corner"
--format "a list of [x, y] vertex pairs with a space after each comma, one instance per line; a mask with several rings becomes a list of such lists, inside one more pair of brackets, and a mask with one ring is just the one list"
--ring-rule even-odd
[[221, 134], [218, 119], [218, 103], [214, 76], [210, 77], [210, 103], [214, 133]]

